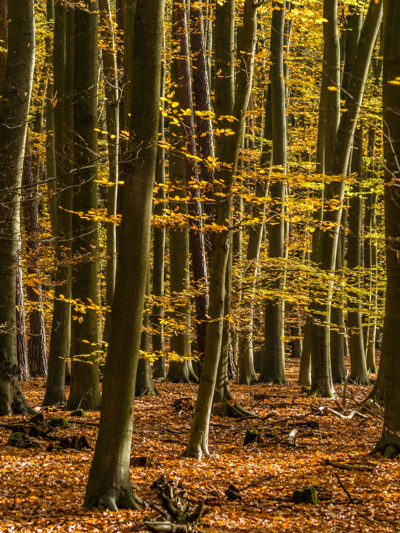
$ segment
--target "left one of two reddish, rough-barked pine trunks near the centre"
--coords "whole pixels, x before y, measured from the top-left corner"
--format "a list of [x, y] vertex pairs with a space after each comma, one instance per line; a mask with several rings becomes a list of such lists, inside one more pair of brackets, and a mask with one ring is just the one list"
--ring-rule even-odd
[[[185, 0], [174, 0], [173, 6], [176, 11], [175, 16], [177, 18], [175, 39], [180, 48], [180, 54], [178, 57], [179, 103], [181, 109], [186, 110], [180, 119], [182, 125], [183, 146], [185, 148], [185, 152], [187, 153], [187, 157], [185, 157], [185, 174], [186, 185], [189, 193], [189, 240], [196, 307], [196, 317], [193, 317], [193, 319], [196, 322], [197, 354], [200, 358], [200, 361], [202, 361], [207, 329], [207, 309], [209, 306], [209, 297], [202, 208], [199, 201], [199, 179], [195, 161], [197, 154], [195, 125], [193, 118], [193, 100], [191, 96], [191, 75]], [[203, 32], [201, 32], [201, 35], [203, 36]], [[197, 65], [198, 64], [199, 63], [197, 63]], [[195, 67], [194, 70], [197, 70], [197, 67]], [[205, 69], [203, 71], [205, 74]], [[207, 89], [207, 84], [205, 84], [205, 89]], [[190, 113], [188, 110], [190, 110]], [[211, 124], [209, 125], [209, 128], [211, 130]], [[197, 131], [197, 135], [198, 134], [199, 132]]]

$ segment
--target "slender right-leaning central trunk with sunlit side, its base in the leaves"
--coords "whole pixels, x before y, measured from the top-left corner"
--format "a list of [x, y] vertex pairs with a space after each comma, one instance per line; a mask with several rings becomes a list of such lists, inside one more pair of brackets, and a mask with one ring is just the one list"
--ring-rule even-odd
[[[221, 11], [217, 7], [216, 17], [219, 13], [231, 16], [231, 3], [226, 3], [226, 11], [221, 6]], [[222, 20], [221, 20], [222, 22]], [[239, 149], [241, 146], [241, 134], [245, 123], [247, 105], [249, 104], [251, 83], [253, 77], [253, 62], [257, 30], [257, 4], [253, 0], [245, 0], [243, 13], [243, 30], [241, 39], [238, 42], [240, 51], [240, 63], [236, 76], [235, 103], [232, 115], [237, 119], [230, 125], [233, 135], [222, 136], [218, 148], [221, 149], [221, 161], [230, 165], [231, 168], [222, 167], [215, 172], [215, 178], [221, 184], [219, 191], [223, 196], [215, 202], [215, 223], [223, 229], [213, 237], [213, 252], [210, 269], [210, 308], [209, 323], [207, 324], [207, 335], [202, 367], [202, 376], [198, 386], [198, 396], [195, 407], [193, 424], [191, 426], [188, 446], [183, 453], [185, 457], [201, 457], [209, 455], [208, 435], [212, 400], [217, 379], [217, 369], [221, 352], [223, 313], [225, 307], [225, 274], [229, 257], [229, 221], [231, 217], [231, 196], [227, 195], [234, 183]], [[229, 49], [228, 49], [229, 50]], [[221, 50], [226, 61], [227, 49]], [[219, 56], [221, 60], [221, 56]], [[224, 61], [224, 63], [225, 63]], [[221, 69], [222, 70], [222, 69]], [[215, 87], [217, 99], [218, 89]], [[222, 95], [219, 95], [222, 96]], [[223, 129], [224, 123], [221, 121]], [[219, 155], [216, 150], [216, 155]], [[226, 196], [227, 195], [227, 196]], [[221, 197], [220, 197], [221, 198]]]

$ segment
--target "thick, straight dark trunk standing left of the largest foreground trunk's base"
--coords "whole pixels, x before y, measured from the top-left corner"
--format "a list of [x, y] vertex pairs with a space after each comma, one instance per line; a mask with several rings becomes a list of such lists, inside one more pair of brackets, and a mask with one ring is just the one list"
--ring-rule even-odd
[[[74, 69], [74, 276], [71, 297], [79, 299], [72, 312], [71, 388], [68, 410], [100, 406], [98, 345], [97, 247], [98, 223], [76, 213], [97, 209], [97, 67], [98, 5], [75, 7]], [[80, 307], [82, 306], [82, 308]]]

